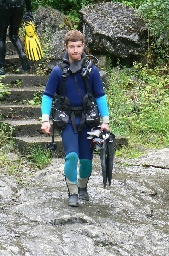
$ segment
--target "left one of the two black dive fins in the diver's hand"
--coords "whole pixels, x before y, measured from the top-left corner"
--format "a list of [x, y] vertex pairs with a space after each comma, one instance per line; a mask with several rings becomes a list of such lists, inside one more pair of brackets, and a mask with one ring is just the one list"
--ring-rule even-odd
[[101, 169], [102, 169], [102, 177], [103, 177], [103, 185], [106, 187], [107, 183], [107, 160], [106, 160], [106, 149], [107, 149], [107, 140], [105, 140], [105, 147], [100, 149], [100, 160], [101, 160]]

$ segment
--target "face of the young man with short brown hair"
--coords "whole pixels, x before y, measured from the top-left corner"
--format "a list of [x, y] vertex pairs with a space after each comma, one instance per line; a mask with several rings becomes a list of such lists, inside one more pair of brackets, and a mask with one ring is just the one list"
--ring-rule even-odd
[[68, 44], [65, 44], [65, 49], [68, 51], [69, 62], [71, 63], [81, 59], [84, 43], [82, 43], [82, 40], [76, 42], [68, 41]]

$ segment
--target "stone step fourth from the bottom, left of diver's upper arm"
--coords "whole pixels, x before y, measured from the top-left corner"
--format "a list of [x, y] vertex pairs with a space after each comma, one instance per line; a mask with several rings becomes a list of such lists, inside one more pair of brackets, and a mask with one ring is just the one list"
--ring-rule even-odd
[[5, 100], [8, 103], [28, 103], [29, 100], [33, 100], [34, 94], [38, 94], [39, 97], [42, 96], [44, 90], [45, 87], [10, 88], [6, 91], [10, 92], [11, 94], [4, 95], [2, 101]]

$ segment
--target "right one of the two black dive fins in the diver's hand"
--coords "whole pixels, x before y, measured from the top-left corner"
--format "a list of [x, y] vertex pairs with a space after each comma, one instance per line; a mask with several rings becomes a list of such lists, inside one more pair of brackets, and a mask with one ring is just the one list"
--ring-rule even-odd
[[107, 163], [106, 163], [109, 186], [111, 184], [112, 172], [113, 172], [113, 160], [114, 160], [114, 154], [115, 154], [114, 143], [115, 143], [115, 134], [110, 133], [110, 136], [107, 139]]

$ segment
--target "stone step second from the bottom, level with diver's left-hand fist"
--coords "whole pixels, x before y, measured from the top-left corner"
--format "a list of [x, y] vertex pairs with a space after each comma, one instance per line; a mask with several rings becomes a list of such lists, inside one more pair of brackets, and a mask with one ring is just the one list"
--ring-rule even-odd
[[[13, 136], [45, 136], [45, 134], [42, 133], [41, 125], [42, 121], [35, 120], [35, 119], [29, 119], [29, 120], [3, 120], [0, 121], [1, 123], [6, 123], [8, 132], [10, 131], [10, 126], [12, 126], [13, 129]], [[50, 124], [52, 126], [52, 121], [50, 121]], [[52, 129], [51, 129], [52, 131]], [[59, 136], [59, 133], [55, 130], [55, 135]]]

